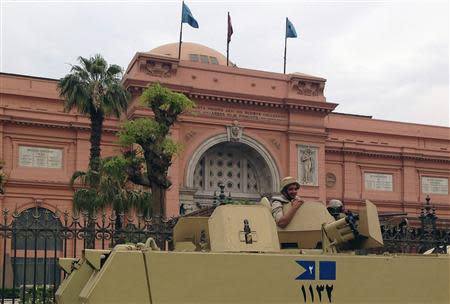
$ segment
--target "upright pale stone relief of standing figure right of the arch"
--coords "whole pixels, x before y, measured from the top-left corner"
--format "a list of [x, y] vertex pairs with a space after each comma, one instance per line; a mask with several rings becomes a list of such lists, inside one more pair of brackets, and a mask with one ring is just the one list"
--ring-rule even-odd
[[318, 185], [318, 148], [312, 146], [298, 146], [299, 181], [301, 185]]

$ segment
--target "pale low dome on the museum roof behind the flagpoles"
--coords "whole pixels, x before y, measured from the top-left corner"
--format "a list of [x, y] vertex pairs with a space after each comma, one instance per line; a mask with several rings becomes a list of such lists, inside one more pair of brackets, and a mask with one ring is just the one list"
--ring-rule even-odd
[[[178, 58], [178, 42], [161, 45], [149, 51], [149, 53]], [[227, 57], [212, 48], [193, 42], [182, 43], [181, 60], [227, 65]]]

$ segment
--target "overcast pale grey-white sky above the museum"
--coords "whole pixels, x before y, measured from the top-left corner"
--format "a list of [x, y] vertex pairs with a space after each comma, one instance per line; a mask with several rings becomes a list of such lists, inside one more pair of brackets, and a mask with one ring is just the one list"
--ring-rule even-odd
[[[60, 78], [78, 56], [126, 68], [138, 51], [178, 41], [181, 1], [0, 0], [0, 70]], [[335, 111], [450, 126], [449, 1], [186, 1], [200, 28], [183, 41], [226, 51], [239, 67], [327, 79]]]

